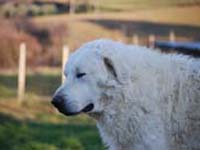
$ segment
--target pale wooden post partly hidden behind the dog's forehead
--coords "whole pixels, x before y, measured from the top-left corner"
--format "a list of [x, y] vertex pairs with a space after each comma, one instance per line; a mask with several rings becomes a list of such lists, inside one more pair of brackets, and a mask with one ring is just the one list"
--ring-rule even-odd
[[68, 56], [69, 56], [69, 48], [67, 45], [64, 45], [63, 50], [62, 50], [62, 83], [65, 80], [64, 69], [65, 69], [65, 63], [67, 62]]

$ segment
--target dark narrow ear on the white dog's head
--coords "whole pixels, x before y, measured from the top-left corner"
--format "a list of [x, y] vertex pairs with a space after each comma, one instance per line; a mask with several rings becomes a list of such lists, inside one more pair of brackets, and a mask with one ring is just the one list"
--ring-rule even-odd
[[117, 79], [117, 72], [115, 70], [115, 66], [114, 66], [112, 60], [109, 59], [109, 58], [107, 58], [107, 57], [104, 57], [103, 61], [104, 61], [104, 64], [105, 64], [105, 67], [106, 67], [106, 70], [108, 71], [108, 73], [112, 77], [114, 77], [115, 79]]

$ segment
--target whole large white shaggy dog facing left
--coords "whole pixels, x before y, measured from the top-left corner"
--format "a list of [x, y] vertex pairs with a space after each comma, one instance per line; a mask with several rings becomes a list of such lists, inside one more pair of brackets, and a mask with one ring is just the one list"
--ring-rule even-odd
[[97, 120], [110, 150], [199, 150], [200, 61], [96, 40], [74, 52], [52, 103]]

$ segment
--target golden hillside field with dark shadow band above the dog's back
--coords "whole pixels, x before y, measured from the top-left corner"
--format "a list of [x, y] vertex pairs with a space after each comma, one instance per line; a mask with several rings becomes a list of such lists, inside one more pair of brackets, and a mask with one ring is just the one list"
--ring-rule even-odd
[[149, 34], [168, 40], [169, 32], [176, 33], [176, 40], [200, 40], [200, 7], [166, 7], [135, 12], [56, 15], [36, 17], [34, 22], [40, 26], [65, 24], [69, 36], [67, 44], [71, 49], [82, 43], [97, 39], [111, 38], [132, 42], [132, 35], [138, 34], [141, 44], [146, 45]]

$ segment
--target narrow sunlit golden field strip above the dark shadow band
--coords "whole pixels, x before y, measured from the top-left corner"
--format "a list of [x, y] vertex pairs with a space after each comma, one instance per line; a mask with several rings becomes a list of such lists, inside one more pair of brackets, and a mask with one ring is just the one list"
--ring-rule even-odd
[[128, 21], [149, 21], [154, 23], [168, 23], [179, 25], [200, 26], [200, 6], [165, 7], [134, 12], [101, 12], [75, 15], [54, 15], [33, 18], [38, 24], [47, 25], [70, 23], [71, 21], [84, 21], [88, 19], [112, 19]]

